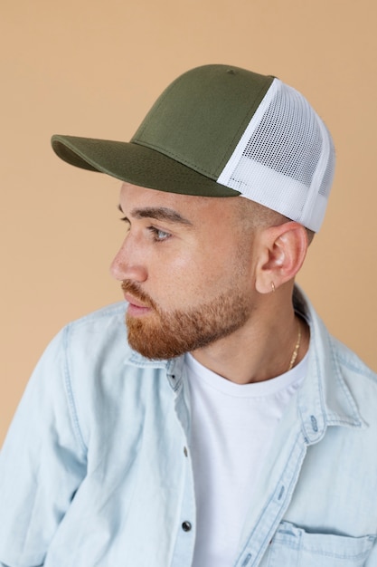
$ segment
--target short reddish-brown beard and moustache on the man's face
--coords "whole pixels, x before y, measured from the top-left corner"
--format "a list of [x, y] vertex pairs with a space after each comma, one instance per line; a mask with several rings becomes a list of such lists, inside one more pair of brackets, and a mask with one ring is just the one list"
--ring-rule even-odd
[[211, 302], [171, 312], [162, 310], [137, 283], [124, 280], [122, 289], [152, 310], [139, 318], [126, 314], [128, 342], [147, 359], [171, 359], [219, 341], [240, 329], [251, 312], [250, 296], [236, 285]]

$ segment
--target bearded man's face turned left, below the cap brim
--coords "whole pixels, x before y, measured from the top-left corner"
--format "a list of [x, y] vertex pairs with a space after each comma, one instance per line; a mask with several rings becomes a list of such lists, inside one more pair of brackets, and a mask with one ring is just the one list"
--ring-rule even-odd
[[128, 341], [151, 359], [203, 348], [239, 330], [253, 309], [252, 238], [241, 197], [192, 197], [124, 184], [122, 282]]

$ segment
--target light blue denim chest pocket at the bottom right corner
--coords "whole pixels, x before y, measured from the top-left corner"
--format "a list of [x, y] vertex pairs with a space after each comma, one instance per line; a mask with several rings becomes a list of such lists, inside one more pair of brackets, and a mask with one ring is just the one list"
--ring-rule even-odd
[[374, 540], [373, 535], [348, 537], [307, 533], [294, 524], [283, 522], [269, 544], [266, 566], [363, 567]]

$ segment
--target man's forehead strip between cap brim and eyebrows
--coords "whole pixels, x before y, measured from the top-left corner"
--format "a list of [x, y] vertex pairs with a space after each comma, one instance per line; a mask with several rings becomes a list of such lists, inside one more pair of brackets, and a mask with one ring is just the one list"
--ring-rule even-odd
[[166, 207], [194, 222], [212, 222], [234, 219], [237, 216], [236, 201], [240, 197], [197, 197], [157, 191], [123, 183], [120, 189], [120, 206], [125, 214], [134, 208]]

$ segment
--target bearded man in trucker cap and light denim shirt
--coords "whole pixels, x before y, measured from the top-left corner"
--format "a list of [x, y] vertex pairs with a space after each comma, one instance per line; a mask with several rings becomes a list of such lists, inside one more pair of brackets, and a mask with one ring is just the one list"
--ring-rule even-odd
[[376, 376], [294, 284], [334, 171], [316, 112], [207, 65], [130, 143], [52, 147], [123, 181], [126, 303], [33, 374], [0, 459], [0, 564], [376, 567]]

